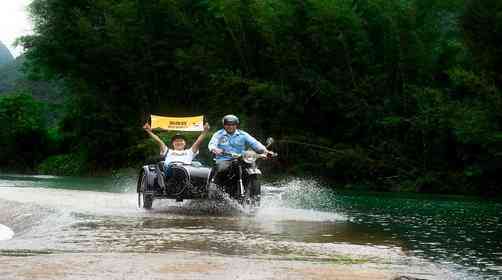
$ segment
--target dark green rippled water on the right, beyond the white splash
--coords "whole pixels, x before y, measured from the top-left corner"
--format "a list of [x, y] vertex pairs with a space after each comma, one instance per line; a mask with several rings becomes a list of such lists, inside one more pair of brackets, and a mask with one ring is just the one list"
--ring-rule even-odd
[[361, 207], [353, 211], [357, 222], [392, 232], [411, 254], [475, 273], [498, 274], [502, 265], [498, 256], [502, 252], [500, 203], [393, 198], [386, 200], [386, 207], [379, 207], [371, 198], [359, 197], [359, 202], [353, 198], [352, 203]]

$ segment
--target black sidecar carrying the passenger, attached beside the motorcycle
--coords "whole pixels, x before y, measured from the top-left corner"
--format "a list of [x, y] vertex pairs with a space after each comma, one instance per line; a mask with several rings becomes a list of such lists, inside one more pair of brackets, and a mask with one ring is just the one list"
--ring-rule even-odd
[[138, 207], [151, 209], [154, 199], [205, 199], [210, 174], [211, 168], [196, 161], [191, 165], [173, 163], [168, 175], [163, 162], [145, 165], [138, 177]]

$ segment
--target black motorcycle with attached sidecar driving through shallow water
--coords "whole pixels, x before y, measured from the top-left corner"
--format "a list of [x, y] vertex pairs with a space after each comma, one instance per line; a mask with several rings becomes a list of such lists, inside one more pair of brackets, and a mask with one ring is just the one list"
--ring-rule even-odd
[[[272, 138], [267, 139], [267, 147], [272, 142]], [[169, 172], [164, 170], [164, 162], [144, 165], [137, 182], [138, 207], [151, 209], [155, 199], [217, 199], [222, 197], [220, 194], [243, 206], [259, 207], [262, 172], [256, 162], [277, 154], [258, 154], [253, 150], [226, 154], [231, 157], [230, 166], [216, 176], [212, 176], [214, 171], [210, 167], [197, 161], [190, 165], [173, 162]]]

